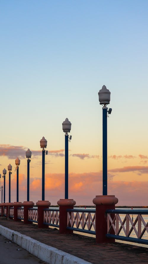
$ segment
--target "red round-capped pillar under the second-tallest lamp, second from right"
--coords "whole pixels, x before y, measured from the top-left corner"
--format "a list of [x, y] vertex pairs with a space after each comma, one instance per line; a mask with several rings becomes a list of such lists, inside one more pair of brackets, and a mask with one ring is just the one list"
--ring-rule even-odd
[[73, 233], [73, 230], [67, 229], [67, 209], [73, 209], [76, 202], [73, 199], [60, 199], [57, 204], [59, 205], [59, 233]]

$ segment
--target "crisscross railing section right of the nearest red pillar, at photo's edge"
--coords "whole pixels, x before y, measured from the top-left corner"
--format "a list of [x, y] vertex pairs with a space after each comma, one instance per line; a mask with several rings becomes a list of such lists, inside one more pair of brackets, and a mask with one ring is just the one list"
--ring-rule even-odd
[[[143, 239], [148, 233], [148, 222], [142, 215], [148, 215], [147, 209], [139, 210], [106, 210], [107, 213], [107, 237], [118, 240], [148, 244]], [[122, 215], [122, 216], [120, 216]], [[133, 216], [134, 215], [134, 220]], [[136, 215], [136, 217], [135, 217]], [[114, 234], [111, 234], [114, 231]]]

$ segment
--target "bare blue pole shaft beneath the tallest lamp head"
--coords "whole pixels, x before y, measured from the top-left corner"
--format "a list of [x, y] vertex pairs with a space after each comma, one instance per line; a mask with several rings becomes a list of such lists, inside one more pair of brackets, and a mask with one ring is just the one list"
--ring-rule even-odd
[[103, 195], [107, 195], [107, 108], [103, 108]]

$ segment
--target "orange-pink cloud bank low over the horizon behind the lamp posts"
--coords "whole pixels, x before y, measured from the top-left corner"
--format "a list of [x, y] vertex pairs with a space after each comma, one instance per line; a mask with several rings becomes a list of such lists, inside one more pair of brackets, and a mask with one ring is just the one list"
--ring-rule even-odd
[[[138, 168], [135, 168], [138, 169]], [[115, 195], [118, 205], [147, 205], [148, 192], [146, 181], [113, 181], [113, 175], [108, 178], [108, 195]], [[90, 173], [69, 173], [69, 198], [76, 205], [93, 205], [93, 198], [102, 195], [102, 171]], [[3, 185], [3, 184], [2, 184]], [[41, 200], [41, 178], [30, 178], [30, 201]], [[6, 201], [8, 200], [9, 179], [6, 178]], [[142, 190], [142, 191], [141, 191]], [[56, 205], [65, 195], [65, 174], [45, 174], [45, 200]], [[16, 174], [11, 179], [12, 202], [16, 201]], [[19, 173], [19, 201], [27, 198], [27, 176]]]

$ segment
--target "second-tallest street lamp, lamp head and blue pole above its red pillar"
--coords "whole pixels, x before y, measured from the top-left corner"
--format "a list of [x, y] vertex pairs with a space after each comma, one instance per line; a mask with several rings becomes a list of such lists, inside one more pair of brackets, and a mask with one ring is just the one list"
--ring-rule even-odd
[[62, 123], [63, 132], [65, 132], [65, 199], [68, 199], [68, 133], [71, 130], [71, 123], [68, 118]]

